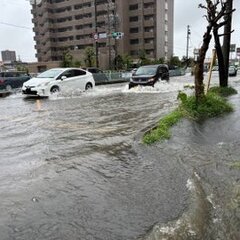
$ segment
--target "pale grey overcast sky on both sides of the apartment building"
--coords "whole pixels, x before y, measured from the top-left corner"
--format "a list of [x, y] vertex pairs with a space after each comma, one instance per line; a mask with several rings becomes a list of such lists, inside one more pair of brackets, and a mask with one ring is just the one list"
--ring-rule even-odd
[[[240, 0], [233, 0], [236, 11], [233, 15], [232, 43], [240, 47]], [[194, 48], [199, 48], [206, 29], [206, 20], [199, 3], [205, 0], [175, 0], [174, 16], [174, 55], [186, 55], [187, 25], [190, 25], [189, 56], [193, 56]], [[28, 0], [0, 0], [0, 51], [14, 50], [22, 61], [36, 61], [34, 34], [32, 32], [31, 5]], [[213, 46], [213, 45], [212, 45]]]

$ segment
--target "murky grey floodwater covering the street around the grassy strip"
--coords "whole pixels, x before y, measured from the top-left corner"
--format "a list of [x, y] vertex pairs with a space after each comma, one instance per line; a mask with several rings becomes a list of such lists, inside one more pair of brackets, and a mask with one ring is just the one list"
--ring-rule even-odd
[[141, 143], [192, 83], [0, 99], [0, 239], [240, 239], [239, 94], [234, 113]]

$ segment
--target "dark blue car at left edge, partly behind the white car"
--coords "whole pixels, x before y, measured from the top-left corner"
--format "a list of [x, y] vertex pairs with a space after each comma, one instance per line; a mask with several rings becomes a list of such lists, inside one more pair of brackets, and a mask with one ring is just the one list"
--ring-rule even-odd
[[31, 77], [26, 72], [8, 71], [0, 72], [0, 90], [12, 91], [22, 87], [23, 83]]

